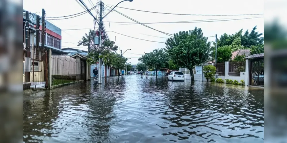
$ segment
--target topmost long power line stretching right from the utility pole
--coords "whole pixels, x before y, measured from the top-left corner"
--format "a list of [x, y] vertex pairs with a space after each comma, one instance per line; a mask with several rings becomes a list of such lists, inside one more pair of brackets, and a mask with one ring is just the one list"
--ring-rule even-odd
[[190, 15], [190, 16], [243, 16], [243, 15], [263, 15], [263, 13], [260, 14], [180, 14], [180, 13], [163, 13], [163, 12], [155, 12], [155, 11], [145, 11], [145, 10], [139, 10], [139, 9], [130, 9], [125, 7], [119, 7], [122, 9], [129, 9], [134, 11], [142, 11], [142, 12], [149, 12], [149, 13], [159, 13], [159, 14], [170, 14], [170, 15]]

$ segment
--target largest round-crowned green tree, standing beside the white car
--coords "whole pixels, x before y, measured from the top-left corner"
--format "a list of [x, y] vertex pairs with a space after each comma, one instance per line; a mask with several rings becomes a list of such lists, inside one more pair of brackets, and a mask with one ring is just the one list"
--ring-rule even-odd
[[[180, 31], [174, 34], [174, 39], [178, 39], [179, 44], [170, 47], [167, 52], [176, 65], [192, 71], [195, 65], [201, 65], [208, 60], [211, 43], [207, 42], [208, 38], [203, 36], [200, 28], [195, 27], [194, 30]], [[190, 77], [194, 82], [193, 72], [190, 72]]]

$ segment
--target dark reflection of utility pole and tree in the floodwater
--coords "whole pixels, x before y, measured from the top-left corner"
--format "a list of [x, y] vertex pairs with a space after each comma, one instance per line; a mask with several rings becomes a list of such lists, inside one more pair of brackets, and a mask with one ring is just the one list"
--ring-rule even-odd
[[87, 103], [91, 110], [85, 123], [92, 142], [109, 140], [110, 126], [113, 124], [111, 120], [115, 117], [115, 101], [121, 98], [118, 95], [123, 93], [125, 88], [124, 78], [111, 78], [107, 79], [97, 93], [93, 93], [90, 102]]

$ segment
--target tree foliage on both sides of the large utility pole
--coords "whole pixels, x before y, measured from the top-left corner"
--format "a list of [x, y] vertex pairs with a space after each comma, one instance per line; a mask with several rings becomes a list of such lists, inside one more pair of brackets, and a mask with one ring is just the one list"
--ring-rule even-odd
[[[78, 42], [78, 46], [83, 45], [83, 46], [88, 46], [88, 55], [87, 57], [87, 62], [89, 64], [95, 64], [99, 61], [99, 46], [94, 44], [94, 37], [96, 36], [96, 31], [90, 30], [90, 35], [87, 33], [82, 37], [82, 40]], [[109, 51], [117, 51], [118, 46], [114, 45], [114, 41], [110, 41], [106, 39], [102, 43], [102, 48], [101, 48], [101, 55], [102, 58], [105, 58], [106, 62], [103, 59], [103, 62], [105, 62], [108, 65], [111, 65], [111, 62], [108, 63], [109, 60], [111, 60], [112, 55]]]

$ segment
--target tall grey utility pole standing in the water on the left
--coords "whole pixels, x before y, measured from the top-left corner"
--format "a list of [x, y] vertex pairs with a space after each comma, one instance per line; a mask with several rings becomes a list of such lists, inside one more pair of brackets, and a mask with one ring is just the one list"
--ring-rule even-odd
[[[99, 56], [102, 50], [102, 25], [103, 25], [103, 2], [100, 1], [100, 22], [99, 22]], [[102, 58], [99, 58], [99, 79], [98, 84], [102, 83]]]

